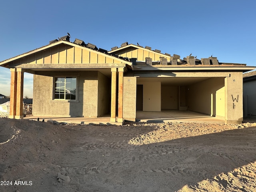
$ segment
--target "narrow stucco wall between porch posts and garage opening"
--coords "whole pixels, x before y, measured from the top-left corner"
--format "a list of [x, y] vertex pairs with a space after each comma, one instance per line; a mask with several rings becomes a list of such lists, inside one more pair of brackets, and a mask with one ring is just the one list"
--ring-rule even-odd
[[136, 77], [124, 77], [123, 118], [135, 121], [136, 118]]

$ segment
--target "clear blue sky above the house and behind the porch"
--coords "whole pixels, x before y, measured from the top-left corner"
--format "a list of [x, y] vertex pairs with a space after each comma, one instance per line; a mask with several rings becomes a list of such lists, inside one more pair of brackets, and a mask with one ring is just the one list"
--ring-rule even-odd
[[[71, 35], [111, 50], [123, 42], [163, 53], [256, 66], [255, 0], [9, 0], [0, 7], [0, 61]], [[24, 75], [32, 97], [33, 76]], [[0, 67], [0, 93], [10, 70]]]

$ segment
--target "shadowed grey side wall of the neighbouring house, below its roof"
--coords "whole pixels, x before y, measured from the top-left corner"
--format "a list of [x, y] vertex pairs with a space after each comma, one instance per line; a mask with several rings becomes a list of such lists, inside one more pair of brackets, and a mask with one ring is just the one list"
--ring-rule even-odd
[[248, 115], [256, 115], [256, 80], [244, 82], [244, 97], [247, 102], [244, 102], [244, 117]]

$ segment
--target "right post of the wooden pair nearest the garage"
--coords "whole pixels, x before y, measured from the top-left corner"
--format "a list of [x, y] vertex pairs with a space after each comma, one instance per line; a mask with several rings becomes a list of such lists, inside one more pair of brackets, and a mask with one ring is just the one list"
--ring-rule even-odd
[[118, 68], [118, 119], [117, 122], [123, 122], [123, 85], [124, 68]]

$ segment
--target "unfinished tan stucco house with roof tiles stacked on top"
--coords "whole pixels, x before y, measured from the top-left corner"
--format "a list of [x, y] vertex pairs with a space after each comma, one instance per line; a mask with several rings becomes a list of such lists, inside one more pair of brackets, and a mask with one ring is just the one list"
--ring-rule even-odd
[[23, 73], [34, 74], [33, 114], [135, 121], [136, 110], [191, 110], [243, 119], [246, 64], [162, 54], [123, 43], [111, 51], [68, 36], [0, 62], [11, 71], [10, 118], [22, 118]]

